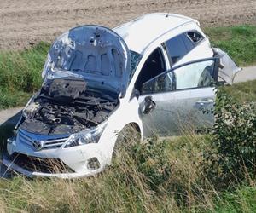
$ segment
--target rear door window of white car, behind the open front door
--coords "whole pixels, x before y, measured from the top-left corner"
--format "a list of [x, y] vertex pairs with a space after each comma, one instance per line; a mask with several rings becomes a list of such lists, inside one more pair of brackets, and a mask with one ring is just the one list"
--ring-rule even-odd
[[181, 60], [183, 56], [187, 55], [193, 48], [194, 44], [190, 41], [186, 34], [172, 37], [166, 42], [166, 49], [172, 59], [172, 64], [175, 64], [178, 60]]

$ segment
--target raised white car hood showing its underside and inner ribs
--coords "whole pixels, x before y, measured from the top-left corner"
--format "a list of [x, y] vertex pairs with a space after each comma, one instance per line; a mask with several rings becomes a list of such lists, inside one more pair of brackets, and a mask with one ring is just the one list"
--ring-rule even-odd
[[52, 44], [42, 78], [84, 78], [124, 96], [130, 66], [129, 49], [116, 32], [103, 26], [78, 26]]

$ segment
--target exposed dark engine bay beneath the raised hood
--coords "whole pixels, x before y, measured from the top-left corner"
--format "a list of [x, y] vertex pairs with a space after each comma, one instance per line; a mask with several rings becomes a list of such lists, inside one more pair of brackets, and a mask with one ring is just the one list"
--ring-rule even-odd
[[82, 78], [48, 80], [24, 109], [20, 128], [41, 135], [73, 134], [105, 121], [118, 100], [113, 92], [87, 88]]

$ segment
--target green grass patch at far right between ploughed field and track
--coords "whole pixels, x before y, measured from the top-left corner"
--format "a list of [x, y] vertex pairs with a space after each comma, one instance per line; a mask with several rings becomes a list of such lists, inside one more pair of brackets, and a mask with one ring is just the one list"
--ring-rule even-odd
[[205, 29], [213, 46], [224, 49], [239, 66], [256, 64], [256, 26]]

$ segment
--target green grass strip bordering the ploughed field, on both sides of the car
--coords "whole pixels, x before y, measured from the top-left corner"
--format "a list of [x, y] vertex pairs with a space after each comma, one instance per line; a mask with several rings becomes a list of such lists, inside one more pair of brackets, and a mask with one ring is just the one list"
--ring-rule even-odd
[[[240, 66], [256, 64], [256, 26], [206, 28], [214, 46]], [[49, 43], [23, 51], [0, 51], [0, 109], [23, 106], [41, 85]]]

